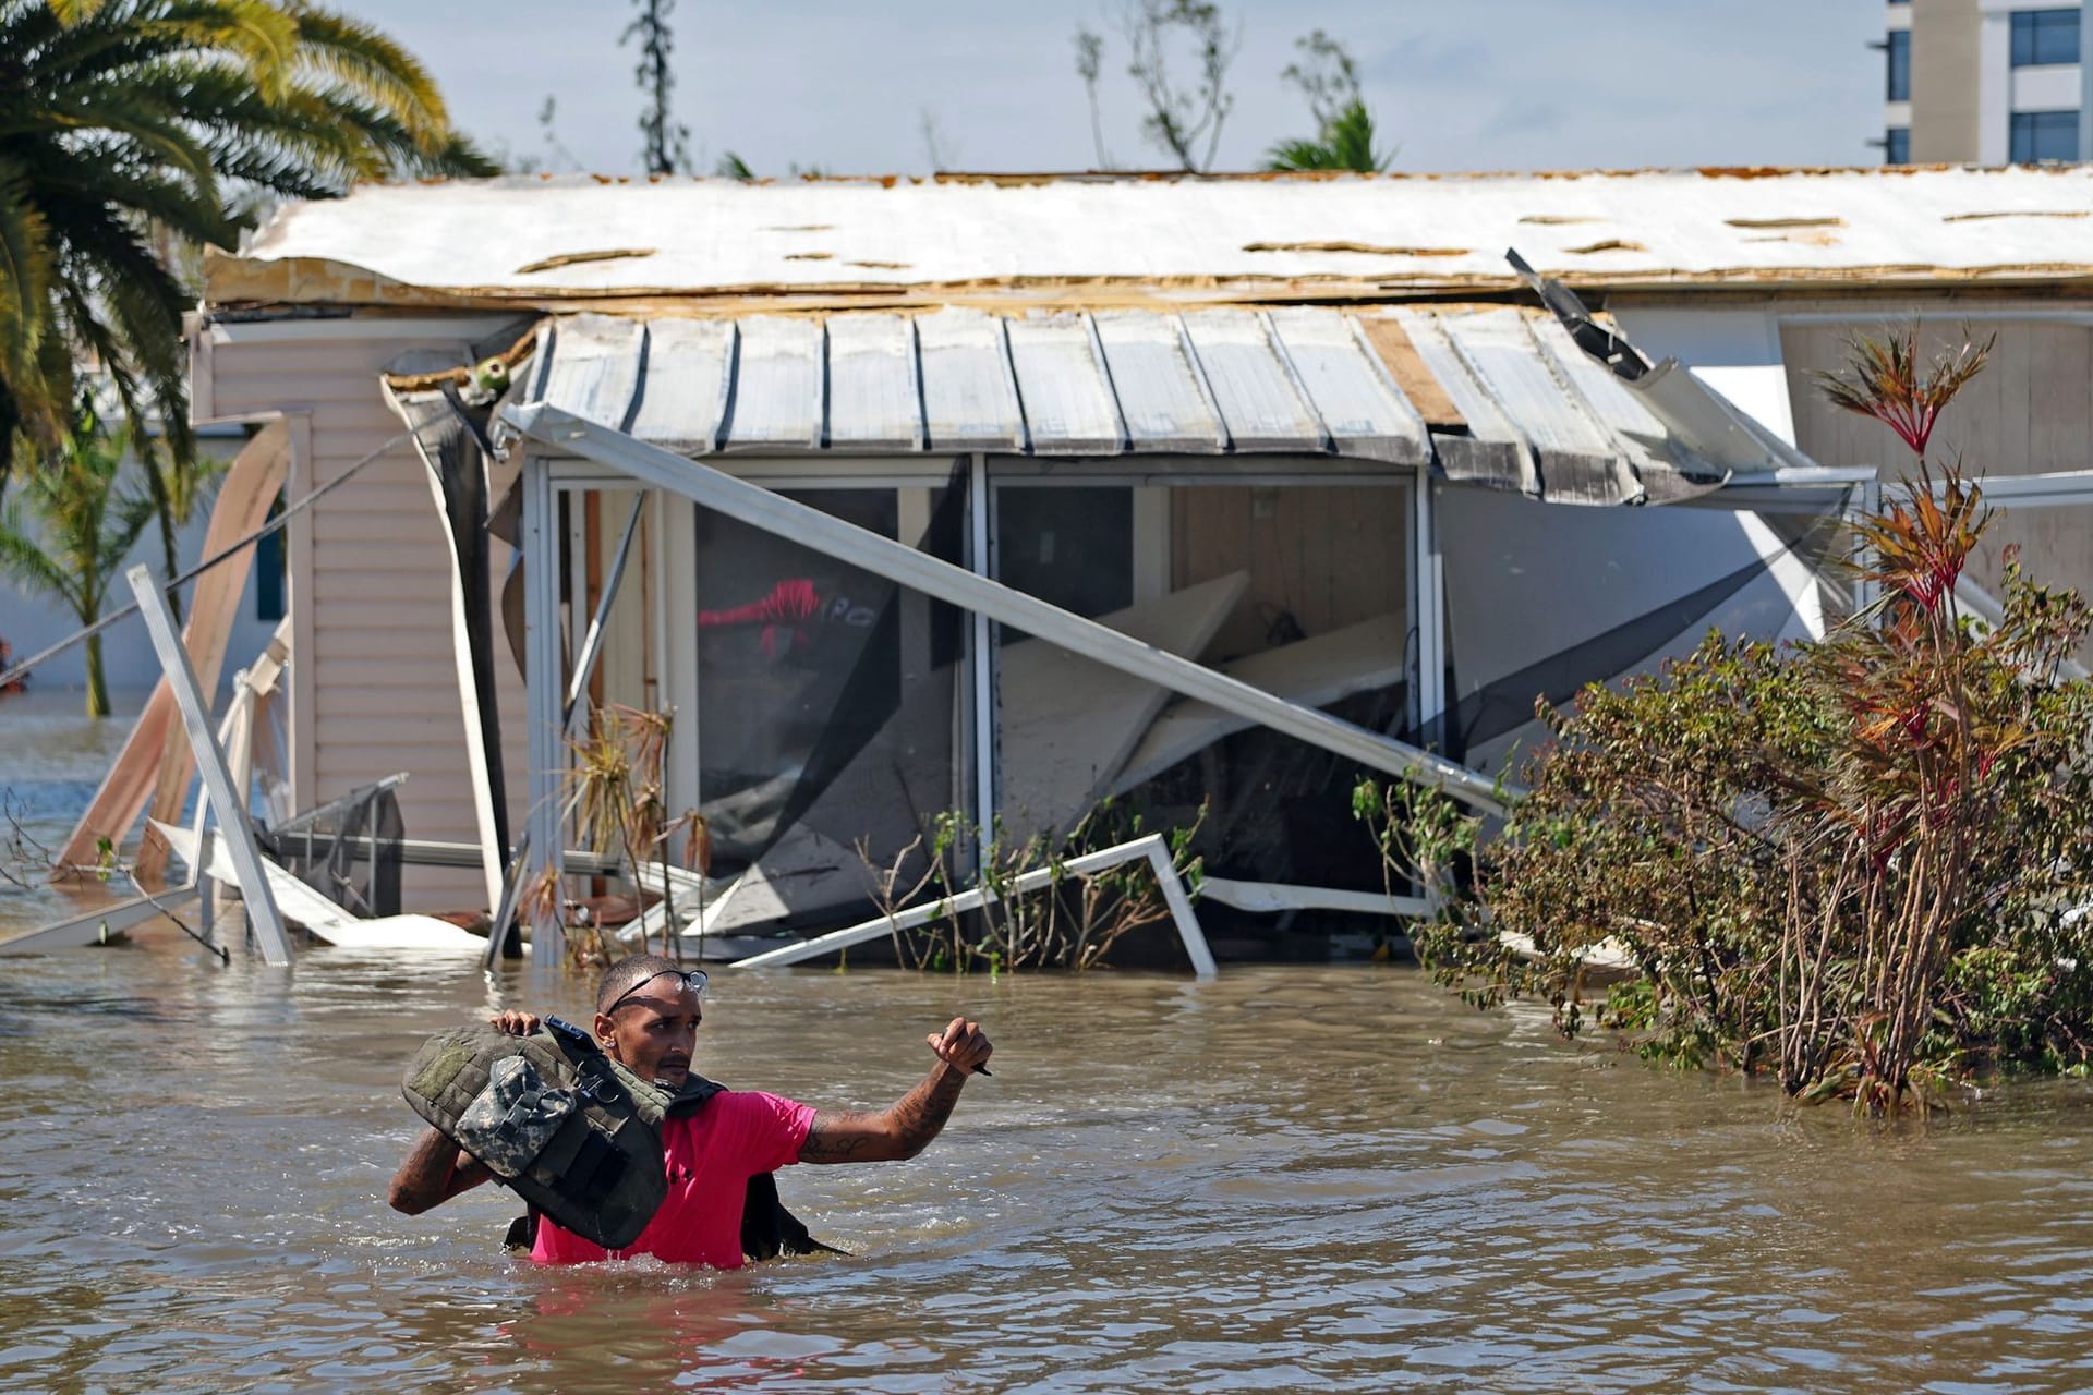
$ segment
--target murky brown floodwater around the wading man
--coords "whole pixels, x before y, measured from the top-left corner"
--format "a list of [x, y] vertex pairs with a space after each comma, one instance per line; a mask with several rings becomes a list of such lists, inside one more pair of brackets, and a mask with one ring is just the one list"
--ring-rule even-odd
[[1404, 966], [720, 973], [735, 1085], [885, 1104], [950, 1014], [996, 1039], [921, 1159], [781, 1175], [848, 1259], [540, 1270], [492, 1188], [387, 1211], [419, 1039], [584, 1000], [167, 927], [0, 958], [0, 1391], [2093, 1389], [2083, 1083], [1880, 1129]]

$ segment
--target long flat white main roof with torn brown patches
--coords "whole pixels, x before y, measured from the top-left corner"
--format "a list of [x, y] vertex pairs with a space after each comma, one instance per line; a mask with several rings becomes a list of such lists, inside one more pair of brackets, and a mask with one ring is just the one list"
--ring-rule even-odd
[[280, 209], [213, 305], [1404, 299], [1570, 284], [2093, 278], [2093, 167], [1563, 176], [511, 178]]

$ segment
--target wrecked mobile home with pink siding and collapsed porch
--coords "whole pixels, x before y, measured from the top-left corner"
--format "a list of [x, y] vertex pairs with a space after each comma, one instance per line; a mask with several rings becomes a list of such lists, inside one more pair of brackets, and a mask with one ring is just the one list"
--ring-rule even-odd
[[565, 736], [622, 703], [676, 713], [714, 935], [858, 918], [940, 811], [1107, 797], [1312, 924], [1381, 889], [1360, 772], [1490, 809], [1536, 696], [1848, 604], [1829, 523], [1894, 454], [1813, 399], [1842, 335], [2001, 330], [1949, 431], [2093, 498], [2089, 211], [2080, 169], [375, 186], [209, 261], [195, 412], [280, 422], [289, 500], [356, 468], [287, 529], [283, 776], [406, 772], [483, 849], [412, 906], [573, 847]]

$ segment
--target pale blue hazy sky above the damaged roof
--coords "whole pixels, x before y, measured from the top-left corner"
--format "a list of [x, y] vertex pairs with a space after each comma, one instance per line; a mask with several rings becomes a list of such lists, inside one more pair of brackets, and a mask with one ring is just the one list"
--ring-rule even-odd
[[[486, 144], [638, 169], [628, 0], [339, 0], [408, 44]], [[710, 163], [758, 174], [929, 169], [925, 113], [959, 169], [1097, 163], [1072, 38], [1107, 36], [1103, 115], [1122, 167], [1155, 167], [1124, 77], [1118, 6], [1097, 0], [680, 0], [676, 115]], [[1216, 167], [1308, 134], [1279, 71], [1323, 27], [1358, 59], [1396, 169], [1875, 163], [1880, 0], [1222, 0], [1241, 25]], [[567, 165], [571, 167], [571, 165]]]

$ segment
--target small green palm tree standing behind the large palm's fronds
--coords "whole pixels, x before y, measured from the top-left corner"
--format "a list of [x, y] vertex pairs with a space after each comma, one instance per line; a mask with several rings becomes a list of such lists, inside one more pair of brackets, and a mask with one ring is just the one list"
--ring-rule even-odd
[[[63, 600], [82, 627], [103, 617], [117, 567], [153, 521], [151, 496], [117, 487], [130, 443], [128, 429], [105, 433], [94, 412], [82, 408], [54, 458], [27, 471], [0, 512], [0, 573], [27, 592]], [[88, 715], [109, 715], [98, 634], [88, 636]]]

